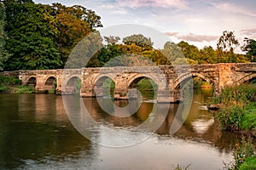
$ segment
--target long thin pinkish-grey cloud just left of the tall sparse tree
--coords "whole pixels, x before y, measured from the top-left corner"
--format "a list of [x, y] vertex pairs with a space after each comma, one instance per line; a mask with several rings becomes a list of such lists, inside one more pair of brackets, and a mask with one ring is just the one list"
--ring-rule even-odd
[[177, 32], [166, 32], [166, 34], [171, 37], [177, 37], [179, 40], [188, 42], [213, 42], [218, 40], [218, 36], [196, 35], [193, 33], [180, 35]]

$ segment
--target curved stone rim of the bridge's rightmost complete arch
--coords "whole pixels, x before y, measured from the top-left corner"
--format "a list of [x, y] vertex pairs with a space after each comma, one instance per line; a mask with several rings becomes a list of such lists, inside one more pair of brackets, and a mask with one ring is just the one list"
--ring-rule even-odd
[[191, 78], [195, 78], [195, 77], [200, 77], [202, 80], [209, 82], [210, 84], [212, 84], [212, 86], [215, 86], [215, 84], [211, 78], [206, 77], [200, 73], [193, 72], [193, 73], [184, 74], [182, 77], [179, 77], [174, 82], [174, 89], [182, 88], [184, 84], [186, 84], [187, 82], [189, 82], [189, 80], [191, 80]]

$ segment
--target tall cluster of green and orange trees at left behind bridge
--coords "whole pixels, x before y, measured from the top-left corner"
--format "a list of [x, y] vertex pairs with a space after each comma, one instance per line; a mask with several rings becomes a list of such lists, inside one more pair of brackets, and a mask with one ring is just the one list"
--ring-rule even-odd
[[0, 65], [7, 71], [62, 68], [73, 47], [102, 27], [100, 16], [79, 5], [5, 0], [0, 13], [0, 48], [9, 53], [1, 49]]

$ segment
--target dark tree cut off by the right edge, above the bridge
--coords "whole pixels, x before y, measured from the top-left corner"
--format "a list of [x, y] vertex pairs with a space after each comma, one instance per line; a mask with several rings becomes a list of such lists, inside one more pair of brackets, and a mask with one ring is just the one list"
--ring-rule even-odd
[[246, 37], [244, 42], [245, 44], [241, 47], [241, 50], [246, 52], [249, 61], [256, 62], [256, 41]]

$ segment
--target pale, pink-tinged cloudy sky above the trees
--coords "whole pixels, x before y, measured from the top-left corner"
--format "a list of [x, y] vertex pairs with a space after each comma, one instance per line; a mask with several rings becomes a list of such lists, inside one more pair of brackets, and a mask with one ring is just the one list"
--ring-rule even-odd
[[[34, 0], [35, 3], [82, 5], [102, 17], [104, 28], [123, 24], [148, 26], [172, 42], [216, 48], [223, 31], [234, 31], [240, 44], [256, 39], [255, 0]], [[241, 49], [236, 48], [240, 53]]]

